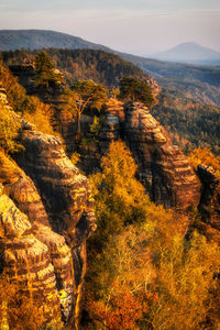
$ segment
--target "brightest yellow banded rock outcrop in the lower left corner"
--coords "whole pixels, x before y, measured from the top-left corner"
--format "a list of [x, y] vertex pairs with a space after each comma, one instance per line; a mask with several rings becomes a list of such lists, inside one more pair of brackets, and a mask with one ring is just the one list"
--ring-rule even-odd
[[37, 240], [26, 215], [6, 195], [0, 197], [0, 249], [1, 270], [10, 280], [41, 302], [47, 320], [61, 320], [59, 294], [48, 246]]

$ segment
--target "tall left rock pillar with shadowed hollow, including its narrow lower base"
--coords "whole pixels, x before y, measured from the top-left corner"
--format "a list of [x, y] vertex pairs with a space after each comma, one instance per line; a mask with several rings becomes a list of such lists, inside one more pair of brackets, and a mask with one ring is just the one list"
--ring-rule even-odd
[[[47, 241], [43, 231], [38, 231], [38, 238], [52, 248], [59, 290], [64, 289], [63, 279], [69, 279], [63, 293], [68, 301], [66, 317], [68, 306], [74, 306], [73, 318], [77, 319], [86, 273], [86, 240], [96, 228], [88, 180], [65, 155], [57, 138], [23, 130], [21, 141], [24, 151], [16, 161], [40, 191], [54, 240]], [[56, 246], [56, 235], [62, 237], [59, 243], [65, 242], [65, 249]], [[59, 248], [66, 256], [65, 265], [59, 262]]]

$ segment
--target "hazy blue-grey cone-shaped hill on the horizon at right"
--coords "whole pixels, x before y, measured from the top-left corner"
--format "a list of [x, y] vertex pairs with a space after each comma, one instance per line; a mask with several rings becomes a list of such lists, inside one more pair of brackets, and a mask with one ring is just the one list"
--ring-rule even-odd
[[168, 61], [199, 65], [218, 65], [220, 64], [220, 53], [204, 47], [197, 43], [183, 43], [166, 52], [151, 55], [151, 57]]

